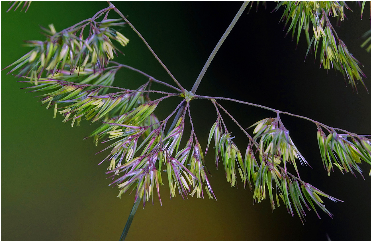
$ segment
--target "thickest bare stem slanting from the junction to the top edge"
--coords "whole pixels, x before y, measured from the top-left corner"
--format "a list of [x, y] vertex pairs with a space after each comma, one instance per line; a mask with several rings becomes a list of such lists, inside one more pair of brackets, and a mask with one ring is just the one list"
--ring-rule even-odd
[[235, 23], [238, 21], [239, 17], [241, 16], [241, 14], [243, 13], [244, 9], [246, 9], [247, 5], [248, 5], [249, 1], [244, 1], [243, 5], [240, 7], [238, 13], [235, 15], [234, 19], [231, 21], [230, 25], [227, 27], [225, 33], [222, 35], [221, 39], [219, 39], [216, 47], [213, 49], [211, 55], [209, 56], [208, 60], [205, 62], [204, 66], [203, 66], [203, 69], [202, 71], [200, 72], [198, 78], [196, 78], [196, 81], [191, 89], [191, 92], [193, 94], [195, 94], [196, 92], [196, 89], [198, 89], [198, 86], [200, 84], [200, 82], [202, 81], [202, 78], [205, 74], [205, 72], [207, 71], [209, 65], [211, 64], [214, 56], [216, 55], [218, 49], [221, 47], [222, 43], [224, 43], [226, 37], [229, 35], [232, 27], [234, 27]]

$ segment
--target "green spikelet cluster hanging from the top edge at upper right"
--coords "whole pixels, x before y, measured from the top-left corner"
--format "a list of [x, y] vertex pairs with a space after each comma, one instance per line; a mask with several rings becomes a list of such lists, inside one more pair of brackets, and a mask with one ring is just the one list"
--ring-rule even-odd
[[298, 44], [302, 30], [305, 32], [309, 46], [306, 56], [312, 46], [315, 53], [314, 62], [319, 53], [320, 66], [323, 65], [324, 69], [329, 70], [332, 67], [340, 71], [356, 91], [356, 81], [360, 81], [366, 88], [362, 80], [366, 76], [360, 69], [360, 62], [349, 52], [328, 19], [328, 16], [336, 17], [338, 23], [344, 20], [344, 7], [349, 9], [344, 1], [280, 1], [273, 11], [282, 6], [284, 7], [282, 20], [286, 20], [284, 28], [291, 20], [286, 34], [292, 30], [293, 40], [297, 31], [296, 44]]

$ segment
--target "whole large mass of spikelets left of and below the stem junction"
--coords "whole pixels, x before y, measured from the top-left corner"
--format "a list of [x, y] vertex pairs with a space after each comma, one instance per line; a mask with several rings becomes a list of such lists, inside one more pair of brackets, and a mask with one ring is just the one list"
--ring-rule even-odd
[[[47, 40], [28, 41], [34, 49], [12, 63], [10, 66], [15, 67], [9, 73], [20, 69], [17, 77], [27, 78], [34, 84], [28, 87], [33, 89], [31, 92], [44, 92], [39, 96], [41, 102], [47, 104], [47, 108], [54, 107], [54, 117], [59, 112], [65, 117], [63, 122], [71, 120], [71, 127], [75, 122], [80, 125], [81, 120], [103, 121], [103, 125], [89, 137], [94, 137], [96, 145], [99, 141], [115, 141], [104, 150], [111, 149], [105, 158], [110, 161], [108, 173], [114, 172], [113, 176], [119, 176], [124, 172], [124, 176], [112, 183], [120, 188], [119, 196], [132, 187], [136, 189], [136, 199], [143, 197], [144, 203], [148, 201], [150, 195], [153, 195], [153, 188], [156, 186], [158, 189], [158, 185], [163, 184], [160, 172], [161, 166], [165, 165], [171, 197], [176, 195], [177, 188], [183, 197], [187, 194], [204, 197], [204, 186], [208, 197], [213, 198], [204, 170], [201, 145], [193, 131], [186, 147], [179, 151], [186, 109], [176, 127], [168, 134], [164, 131], [166, 123], [177, 109], [160, 122], [154, 115], [160, 101], [182, 94], [152, 91], [151, 82], [158, 82], [177, 91], [180, 89], [130, 66], [110, 62], [113, 52], [120, 52], [110, 39], [117, 40], [123, 46], [128, 43], [128, 39], [112, 29], [124, 24], [118, 23], [119, 20], [106, 20], [106, 16], [100, 22], [95, 20], [104, 12], [101, 10], [95, 17], [59, 33], [52, 24], [49, 25], [50, 30], [44, 29], [48, 32]], [[90, 26], [89, 36], [84, 39], [83, 31], [87, 25]], [[137, 90], [113, 87], [111, 85], [119, 68], [140, 72], [150, 80]], [[113, 88], [119, 89], [119, 92], [110, 93]], [[166, 96], [151, 101], [145, 95], [149, 92]], [[183, 102], [185, 100], [177, 108]], [[192, 123], [190, 114], [189, 117]], [[137, 146], [138, 143], [140, 145]]]

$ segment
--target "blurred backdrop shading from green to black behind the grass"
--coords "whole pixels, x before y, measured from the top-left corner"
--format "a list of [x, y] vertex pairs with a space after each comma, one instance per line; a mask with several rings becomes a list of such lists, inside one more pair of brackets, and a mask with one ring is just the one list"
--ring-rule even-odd
[[[1, 68], [16, 61], [29, 48], [22, 40], [44, 40], [38, 25], [54, 23], [57, 31], [92, 17], [107, 7], [105, 1], [35, 1], [27, 13], [6, 13], [1, 1]], [[141, 32], [160, 59], [186, 89], [191, 89], [204, 62], [241, 6], [241, 2], [113, 2]], [[301, 35], [295, 50], [291, 36], [284, 37], [282, 11], [271, 13], [268, 3], [243, 14], [216, 55], [198, 89], [198, 94], [223, 96], [305, 115], [324, 124], [358, 134], [371, 134], [371, 95], [362, 85], [353, 94], [340, 73], [314, 65]], [[364, 65], [365, 84], [371, 92], [371, 55], [357, 38], [370, 27], [369, 6], [360, 20], [360, 8], [349, 3], [348, 20], [337, 28], [350, 52]], [[109, 17], [118, 18], [115, 13]], [[157, 79], [172, 83], [139, 37], [129, 28], [121, 30], [130, 39], [116, 60], [138, 68]], [[107, 155], [94, 155], [105, 146], [83, 141], [99, 124], [81, 127], [64, 124], [61, 115], [40, 107], [35, 94], [20, 88], [12, 75], [1, 72], [1, 240], [118, 240], [134, 202], [134, 196], [117, 198], [118, 189], [108, 187], [108, 164], [97, 164]], [[120, 71], [116, 85], [137, 88], [147, 81], [136, 73]], [[155, 85], [154, 85], [155, 86]], [[160, 88], [160, 86], [155, 86]], [[167, 89], [163, 89], [167, 90]], [[178, 99], [163, 101], [155, 111], [165, 118]], [[259, 108], [220, 102], [243, 125], [274, 114]], [[208, 101], [191, 105], [196, 134], [203, 147], [216, 114]], [[127, 240], [371, 240], [370, 166], [362, 164], [365, 180], [339, 171], [328, 177], [316, 141], [316, 126], [297, 118], [282, 118], [310, 167], [300, 167], [301, 178], [318, 189], [343, 200], [324, 199], [331, 219], [313, 211], [302, 225], [282, 205], [272, 213], [269, 202], [253, 205], [252, 193], [243, 184], [232, 189], [223, 169], [216, 171], [213, 155], [206, 164], [217, 201], [169, 199], [168, 185], [160, 187], [163, 206], [154, 200], [138, 209]], [[235, 143], [242, 151], [244, 134], [225, 118]], [[318, 209], [319, 210], [319, 209]]]

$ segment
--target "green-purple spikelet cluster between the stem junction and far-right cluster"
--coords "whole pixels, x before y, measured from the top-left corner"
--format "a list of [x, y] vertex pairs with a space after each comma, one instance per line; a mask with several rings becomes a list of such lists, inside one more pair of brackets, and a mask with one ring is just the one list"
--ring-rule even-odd
[[[295, 208], [302, 222], [305, 221], [304, 206], [308, 210], [312, 207], [317, 213], [314, 204], [332, 217], [332, 214], [323, 205], [323, 200], [319, 195], [334, 202], [341, 200], [321, 192], [299, 178], [296, 160], [299, 160], [301, 164], [309, 164], [294, 145], [279, 116], [261, 120], [251, 126], [255, 126], [253, 133], [256, 135], [249, 141], [244, 158], [237, 145], [232, 142], [234, 137], [231, 137], [230, 133], [221, 134], [221, 119], [222, 117], [218, 112], [217, 121], [212, 125], [209, 132], [206, 152], [212, 137], [214, 137], [216, 166], [221, 156], [227, 181], [231, 183], [231, 186], [236, 183], [235, 166], [237, 166], [244, 186], [248, 182], [251, 191], [253, 189], [254, 201], [265, 200], [267, 191], [272, 209], [275, 209], [273, 190], [276, 190], [276, 206], [280, 206], [281, 199], [292, 216], [294, 216], [292, 208]], [[259, 162], [254, 155], [256, 153]], [[298, 176], [294, 176], [287, 171], [287, 161], [294, 165]], [[281, 166], [282, 162], [284, 168]], [[272, 184], [273, 181], [274, 184]], [[317, 216], [320, 218], [318, 213]]]

